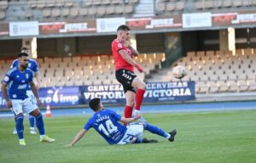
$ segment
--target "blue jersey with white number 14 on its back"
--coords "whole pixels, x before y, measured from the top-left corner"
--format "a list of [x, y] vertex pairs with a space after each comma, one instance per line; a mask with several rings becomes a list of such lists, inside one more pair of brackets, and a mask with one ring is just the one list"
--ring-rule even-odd
[[127, 128], [118, 121], [121, 116], [112, 110], [101, 110], [96, 112], [84, 125], [85, 130], [93, 127], [109, 143], [119, 143], [124, 137]]

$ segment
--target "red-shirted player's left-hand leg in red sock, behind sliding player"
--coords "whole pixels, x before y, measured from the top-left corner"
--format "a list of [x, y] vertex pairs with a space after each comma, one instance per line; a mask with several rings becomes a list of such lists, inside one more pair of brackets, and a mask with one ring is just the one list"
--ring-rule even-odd
[[135, 103], [135, 93], [127, 90], [125, 93], [126, 105], [125, 105], [125, 118], [131, 118], [133, 106]]

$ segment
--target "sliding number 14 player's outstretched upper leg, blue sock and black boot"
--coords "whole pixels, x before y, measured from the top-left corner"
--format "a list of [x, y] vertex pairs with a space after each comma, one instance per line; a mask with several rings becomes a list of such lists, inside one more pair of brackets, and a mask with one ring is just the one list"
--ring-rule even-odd
[[172, 132], [165, 132], [163, 129], [161, 129], [159, 126], [154, 126], [151, 125], [149, 123], [143, 123], [144, 126], [144, 130], [147, 130], [148, 132], [157, 134], [161, 137], [167, 138], [168, 140], [170, 140], [171, 142], [174, 141], [175, 135], [177, 134], [177, 130], [174, 129], [172, 130]]

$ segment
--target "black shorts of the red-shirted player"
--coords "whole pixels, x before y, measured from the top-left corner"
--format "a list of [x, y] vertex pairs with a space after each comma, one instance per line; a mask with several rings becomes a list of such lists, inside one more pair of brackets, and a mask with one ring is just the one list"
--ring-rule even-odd
[[124, 87], [124, 92], [126, 93], [128, 90], [136, 93], [136, 90], [134, 87], [131, 86], [131, 82], [136, 78], [137, 76], [131, 72], [130, 70], [125, 69], [119, 69], [115, 71], [115, 78], [119, 83], [121, 83]]

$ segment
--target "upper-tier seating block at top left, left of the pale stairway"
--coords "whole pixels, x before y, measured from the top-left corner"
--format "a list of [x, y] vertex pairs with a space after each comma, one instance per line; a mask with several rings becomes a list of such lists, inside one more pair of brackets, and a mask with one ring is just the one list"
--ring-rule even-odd
[[[138, 0], [1, 1], [0, 21], [62, 20], [131, 16]], [[5, 15], [8, 14], [8, 17]]]

